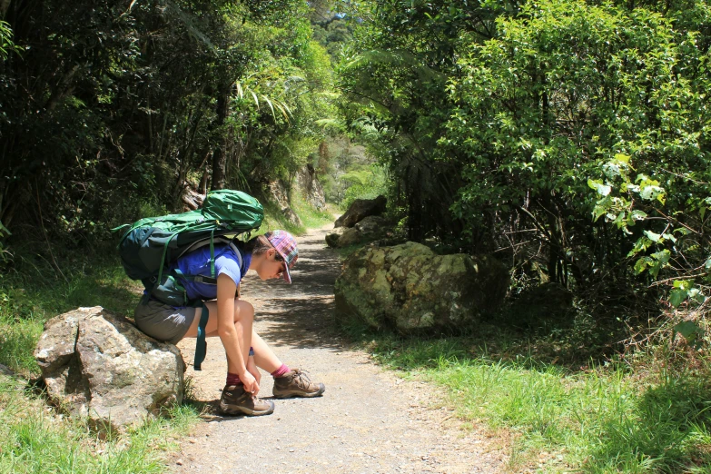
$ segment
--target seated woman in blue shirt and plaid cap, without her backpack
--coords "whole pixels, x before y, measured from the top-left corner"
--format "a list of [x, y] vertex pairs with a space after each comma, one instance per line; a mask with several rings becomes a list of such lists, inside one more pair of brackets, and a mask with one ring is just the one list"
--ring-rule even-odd
[[[325, 387], [313, 383], [298, 369], [290, 370], [252, 329], [254, 308], [242, 301], [237, 292], [242, 276], [248, 270], [257, 272], [262, 280], [283, 278], [291, 283], [289, 269], [298, 258], [296, 241], [289, 232], [273, 231], [236, 246], [215, 244], [214, 273], [209, 246], [189, 252], [176, 262], [171, 272], [183, 285], [189, 301], [204, 301], [209, 311], [205, 326], [207, 337], [219, 336], [227, 354], [227, 381], [222, 390], [220, 410], [227, 415], [268, 415], [274, 410], [272, 400], [256, 398], [260, 371], [274, 377], [276, 398], [318, 397]], [[181, 275], [217, 276], [217, 284], [209, 284]], [[198, 279], [199, 280], [199, 279]], [[195, 338], [202, 308], [164, 304], [146, 295], [135, 311], [138, 328], [149, 336], [173, 344], [183, 338]]]

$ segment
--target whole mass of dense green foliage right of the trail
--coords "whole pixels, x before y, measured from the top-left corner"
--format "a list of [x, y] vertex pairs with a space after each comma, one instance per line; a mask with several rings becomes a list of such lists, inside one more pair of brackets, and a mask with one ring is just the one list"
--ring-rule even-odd
[[360, 15], [347, 113], [377, 130], [411, 238], [497, 252], [597, 303], [654, 279], [675, 305], [704, 301], [705, 2], [389, 0]]

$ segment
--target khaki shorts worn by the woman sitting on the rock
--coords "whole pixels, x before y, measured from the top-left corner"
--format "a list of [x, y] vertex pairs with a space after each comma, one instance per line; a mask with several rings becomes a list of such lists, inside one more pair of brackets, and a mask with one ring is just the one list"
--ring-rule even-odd
[[138, 329], [158, 341], [177, 344], [195, 319], [196, 308], [173, 308], [160, 301], [143, 298], [133, 313]]

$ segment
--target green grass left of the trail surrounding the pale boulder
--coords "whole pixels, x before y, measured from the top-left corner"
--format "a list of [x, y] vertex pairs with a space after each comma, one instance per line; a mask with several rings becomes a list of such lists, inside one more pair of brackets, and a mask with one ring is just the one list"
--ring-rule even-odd
[[50, 409], [27, 380], [39, 375], [33, 357], [44, 321], [79, 306], [101, 305], [130, 316], [140, 285], [125, 277], [114, 245], [94, 252], [55, 250], [60, 272], [25, 249], [0, 277], [0, 474], [45, 472], [148, 473], [167, 470], [175, 439], [198, 420], [190, 405], [143, 427], [102, 440], [81, 420]]

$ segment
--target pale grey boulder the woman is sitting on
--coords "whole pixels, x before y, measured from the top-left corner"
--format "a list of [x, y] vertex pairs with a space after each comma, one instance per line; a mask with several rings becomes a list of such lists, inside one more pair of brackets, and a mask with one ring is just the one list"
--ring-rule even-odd
[[98, 430], [139, 425], [183, 401], [185, 364], [178, 348], [101, 306], [47, 321], [35, 359], [49, 399]]

